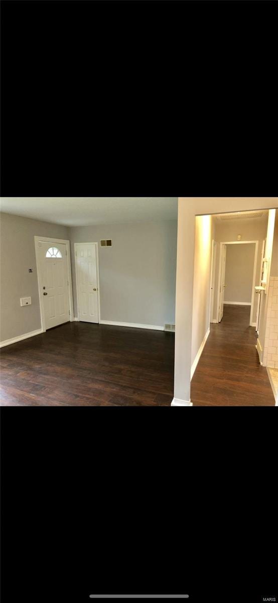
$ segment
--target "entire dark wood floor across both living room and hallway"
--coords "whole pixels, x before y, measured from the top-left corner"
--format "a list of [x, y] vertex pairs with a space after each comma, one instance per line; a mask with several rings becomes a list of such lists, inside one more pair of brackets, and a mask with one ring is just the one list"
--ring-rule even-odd
[[[224, 306], [191, 382], [193, 406], [274, 406], [249, 306]], [[67, 323], [1, 350], [1, 405], [170, 406], [173, 333]]]

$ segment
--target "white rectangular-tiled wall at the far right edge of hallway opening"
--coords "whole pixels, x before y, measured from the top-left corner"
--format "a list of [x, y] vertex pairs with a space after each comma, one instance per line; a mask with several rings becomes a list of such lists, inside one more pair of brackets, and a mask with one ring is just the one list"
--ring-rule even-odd
[[263, 364], [278, 368], [278, 276], [270, 277]]

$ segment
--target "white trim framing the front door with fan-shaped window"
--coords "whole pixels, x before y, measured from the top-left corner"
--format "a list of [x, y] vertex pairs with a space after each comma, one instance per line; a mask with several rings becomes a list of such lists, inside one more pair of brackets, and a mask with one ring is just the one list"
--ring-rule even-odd
[[40, 274], [40, 258], [39, 258], [39, 241], [46, 243], [63, 243], [66, 245], [66, 260], [67, 260], [67, 290], [69, 293], [69, 320], [72, 323], [73, 317], [73, 296], [72, 296], [72, 270], [70, 264], [70, 242], [67, 239], [57, 239], [51, 236], [34, 236], [35, 252], [36, 252], [36, 264], [37, 264], [37, 276], [38, 276], [38, 288], [39, 288], [39, 300], [40, 300], [40, 320], [42, 323], [42, 332], [45, 333], [45, 308], [43, 305], [43, 285], [42, 275]]

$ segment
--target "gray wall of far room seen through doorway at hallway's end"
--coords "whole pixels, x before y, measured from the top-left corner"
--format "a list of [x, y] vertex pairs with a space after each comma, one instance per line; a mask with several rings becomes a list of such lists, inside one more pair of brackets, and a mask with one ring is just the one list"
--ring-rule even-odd
[[255, 243], [227, 245], [224, 301], [251, 303]]

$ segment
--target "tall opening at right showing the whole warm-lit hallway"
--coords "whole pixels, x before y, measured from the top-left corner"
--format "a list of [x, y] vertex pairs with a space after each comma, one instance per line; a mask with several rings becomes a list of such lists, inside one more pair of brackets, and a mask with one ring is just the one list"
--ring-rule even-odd
[[274, 220], [275, 210], [196, 216], [193, 405], [275, 403], [264, 368], [271, 313], [276, 338], [277, 319], [268, 309]]

